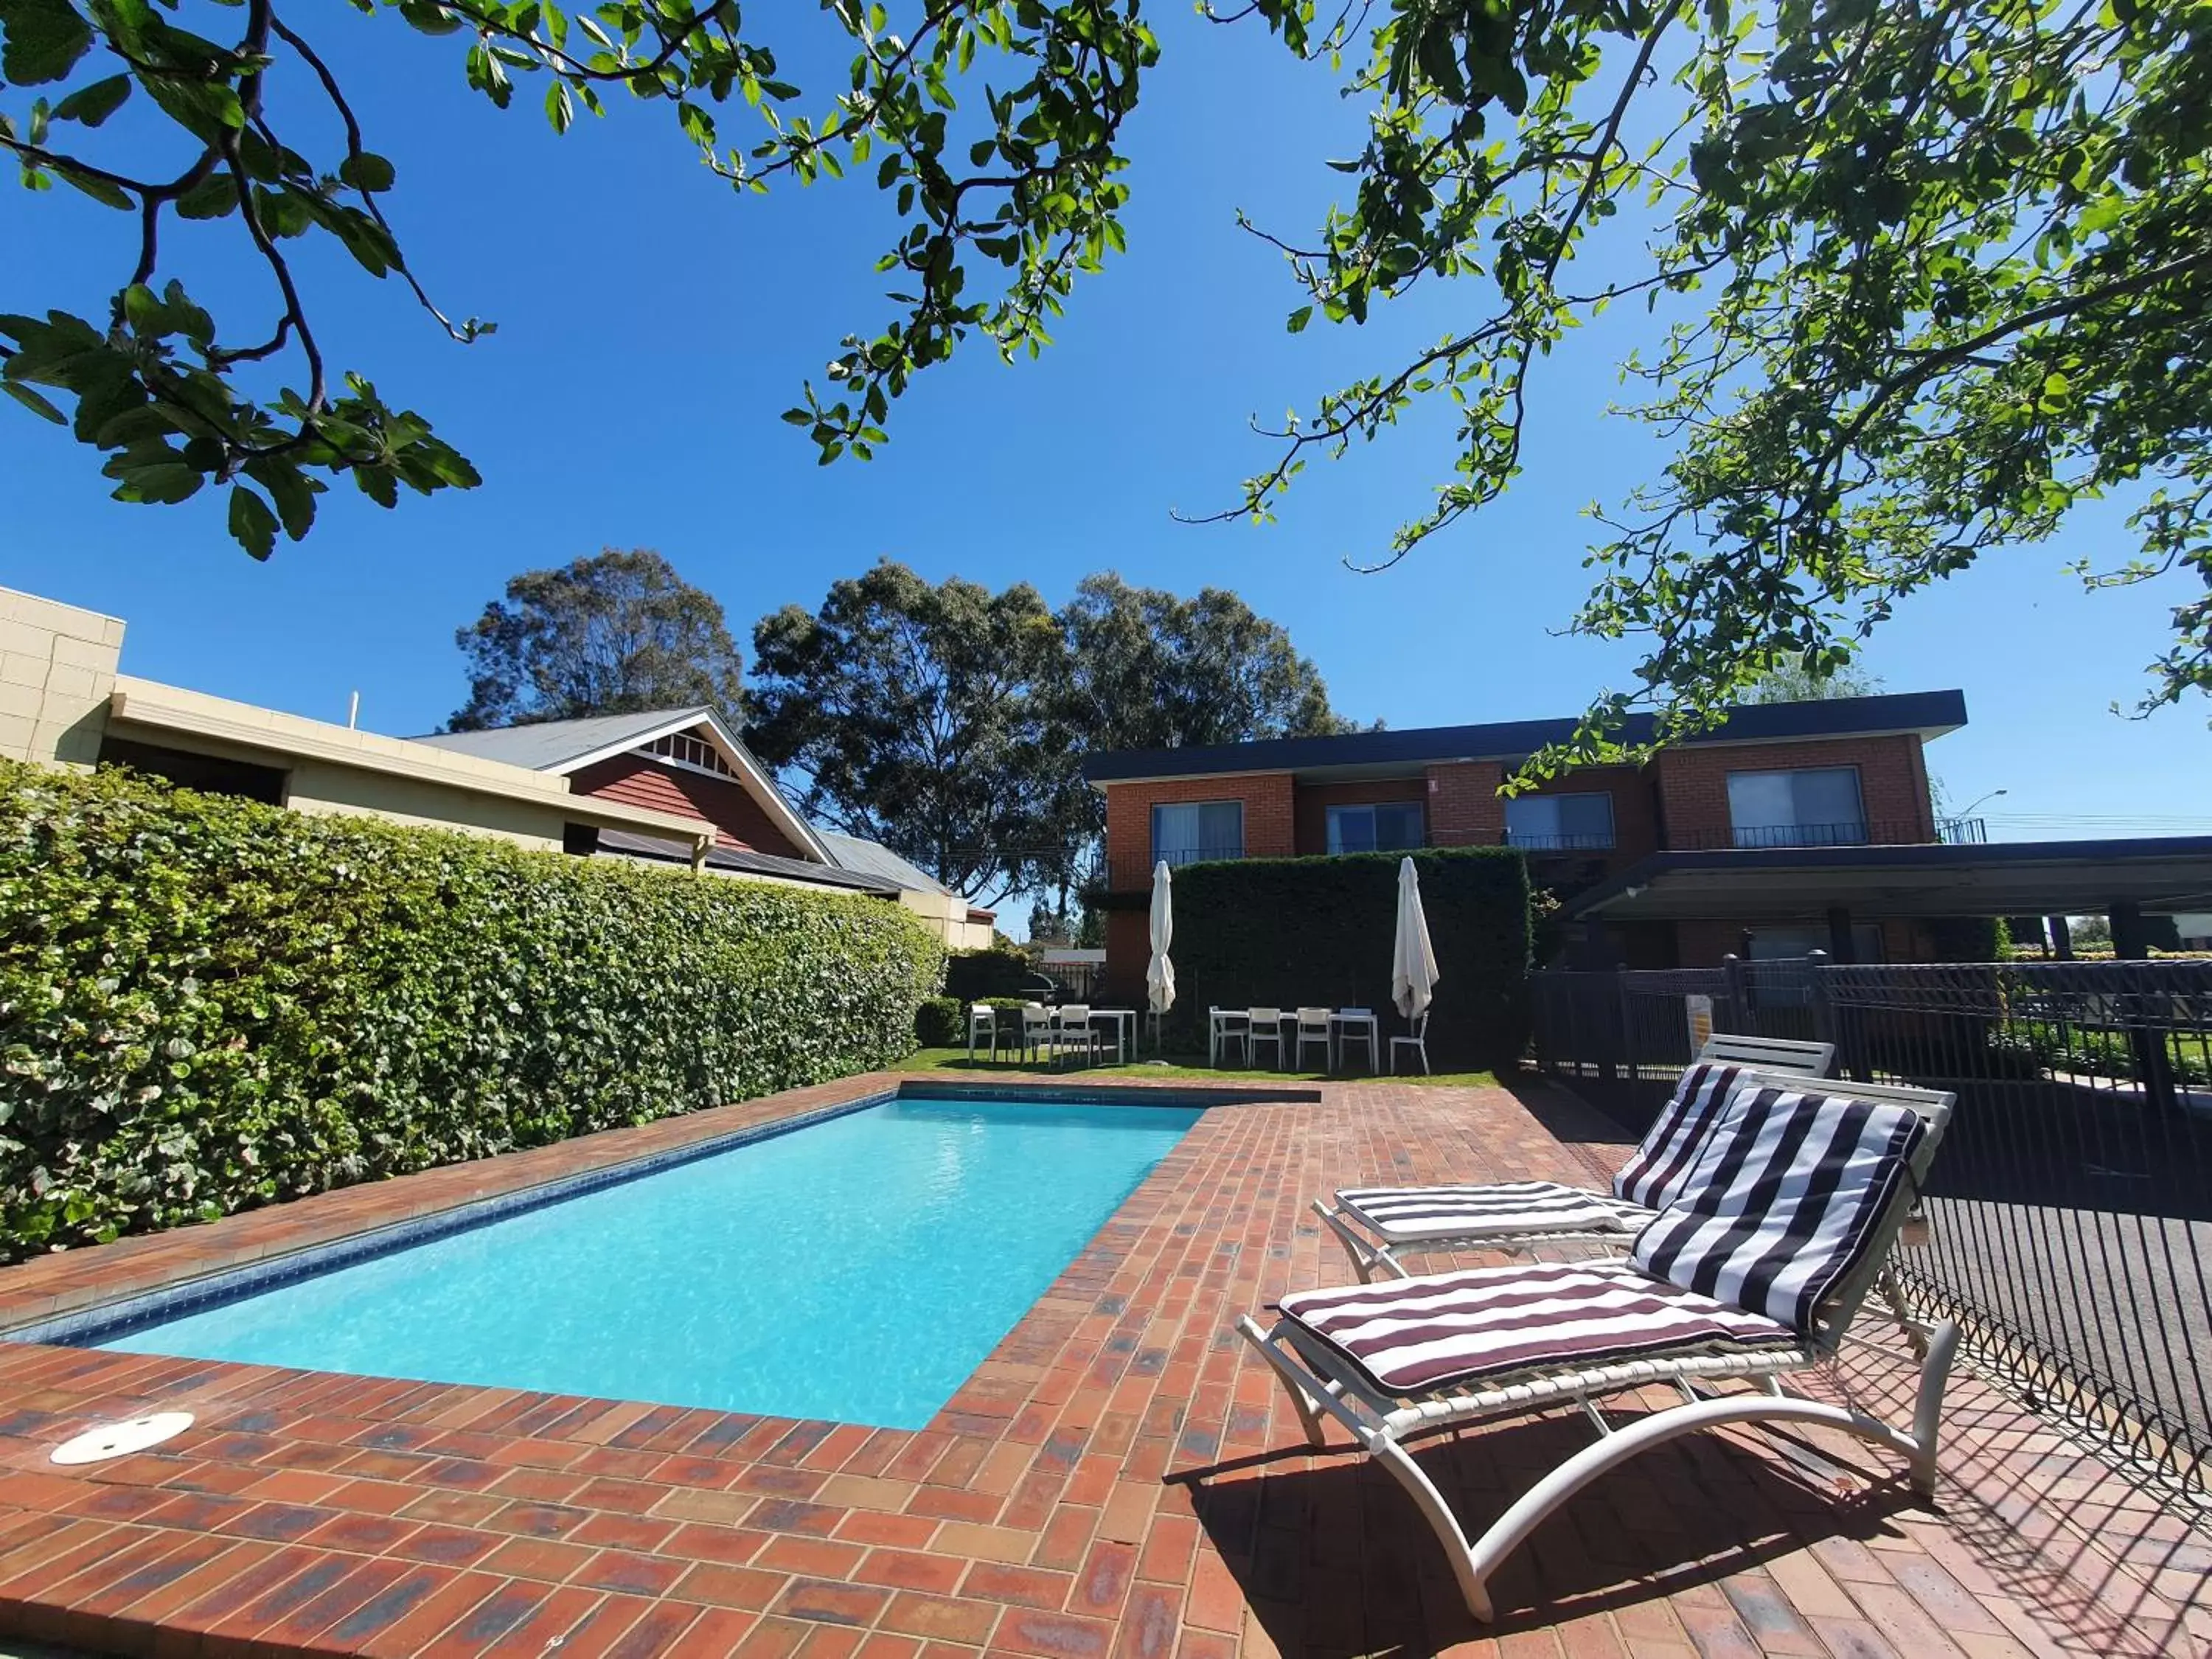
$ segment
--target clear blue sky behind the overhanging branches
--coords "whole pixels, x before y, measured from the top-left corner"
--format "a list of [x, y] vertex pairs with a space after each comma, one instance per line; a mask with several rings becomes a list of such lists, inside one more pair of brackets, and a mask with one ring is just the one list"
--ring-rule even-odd
[[[827, 29], [812, 9], [790, 22]], [[1566, 714], [1626, 684], [1626, 646], [1551, 630], [1584, 591], [1582, 509], [1617, 502], [1659, 460], [1639, 427], [1604, 416], [1639, 327], [1628, 314], [1548, 365], [1513, 493], [1396, 571], [1340, 560], [1371, 555], [1447, 476], [1444, 409], [1310, 469], [1274, 526], [1168, 520], [1223, 504], [1265, 465], [1252, 411], [1310, 407], [1482, 296], [1431, 288], [1365, 332], [1287, 336], [1287, 276], [1232, 215], [1292, 234], [1318, 223], [1340, 181], [1321, 159], [1356, 148], [1354, 111], [1254, 29], [1179, 7], [1155, 27], [1166, 55], [1130, 128], [1128, 257], [1077, 292], [1040, 363], [971, 352], [933, 369], [874, 465], [821, 469], [779, 414], [843, 334], [887, 314], [872, 263], [889, 221], [867, 181], [737, 197], [666, 108], [630, 100], [555, 139], [529, 86], [504, 115], [462, 88], [458, 38], [332, 7], [316, 42], [352, 60], [369, 142], [398, 164], [387, 201], [416, 270], [449, 312], [500, 332], [447, 343], [327, 239], [303, 259], [316, 316], [332, 361], [429, 414], [484, 487], [392, 513], [332, 491], [310, 540], [261, 566], [226, 535], [217, 491], [184, 509], [108, 502], [97, 453], [0, 409], [0, 582], [126, 617], [128, 672], [323, 719], [361, 690], [363, 723], [403, 734], [465, 699], [453, 628], [511, 573], [602, 544], [666, 553], [741, 639], [889, 555], [929, 577], [1029, 580], [1053, 602], [1099, 568], [1232, 586], [1290, 628], [1338, 708], [1400, 728]], [[128, 135], [131, 119], [111, 126]], [[0, 310], [97, 307], [128, 270], [131, 232], [69, 190], [0, 192], [18, 250]], [[201, 299], [261, 294], [228, 254], [234, 226], [173, 237]], [[263, 321], [228, 316], [237, 336]], [[1995, 834], [2059, 818], [2212, 830], [2203, 701], [2148, 723], [2108, 712], [2139, 695], [2166, 611], [2188, 595], [2179, 582], [2084, 595], [2062, 571], [2117, 555], [2117, 522], [2086, 515], [2055, 544], [1986, 557], [1911, 602], [1869, 653], [1891, 690], [1964, 688], [1973, 723], [1931, 763], [1953, 805], [2008, 790], [1984, 807]]]

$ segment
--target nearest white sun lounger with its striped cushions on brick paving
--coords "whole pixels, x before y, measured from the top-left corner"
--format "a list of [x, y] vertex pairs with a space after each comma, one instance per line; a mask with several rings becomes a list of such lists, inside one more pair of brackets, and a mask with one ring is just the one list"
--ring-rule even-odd
[[[1699, 1155], [1708, 1179], [1659, 1212], [1630, 1261], [1542, 1261], [1283, 1296], [1281, 1321], [1237, 1323], [1287, 1389], [1312, 1444], [1343, 1422], [1413, 1498], [1444, 1544], [1467, 1608], [1493, 1617], [1489, 1579], [1553, 1511], [1650, 1447], [1736, 1422], [1812, 1422], [1898, 1451], [1933, 1495], [1942, 1394], [1958, 1325], [1913, 1321], [1911, 1427], [1787, 1394], [1834, 1360], [1924, 1183], [1949, 1106], [1816, 1095], [1805, 1079], [1750, 1091]], [[1814, 1148], [1812, 1155], [1805, 1148]], [[1747, 1380], [1752, 1391], [1714, 1391]], [[1615, 1427], [1599, 1400], [1652, 1383], [1683, 1402]], [[1416, 1436], [1579, 1407], [1584, 1447], [1469, 1542], [1407, 1451]]]

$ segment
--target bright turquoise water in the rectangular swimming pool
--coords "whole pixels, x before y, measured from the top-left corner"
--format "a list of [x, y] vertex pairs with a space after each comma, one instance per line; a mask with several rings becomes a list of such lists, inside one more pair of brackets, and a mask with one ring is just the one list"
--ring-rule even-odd
[[1197, 1119], [898, 1099], [100, 1345], [920, 1429]]

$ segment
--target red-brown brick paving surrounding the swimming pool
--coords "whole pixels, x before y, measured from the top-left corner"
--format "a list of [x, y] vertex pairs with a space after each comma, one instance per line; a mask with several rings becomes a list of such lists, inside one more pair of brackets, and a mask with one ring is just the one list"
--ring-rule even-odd
[[[0, 1270], [0, 1327], [885, 1082]], [[1225, 1329], [1349, 1276], [1318, 1192], [1617, 1159], [1606, 1119], [1537, 1086], [1217, 1108], [918, 1433], [0, 1343], [0, 1632], [164, 1657], [2212, 1652], [2212, 1537], [1973, 1374], [1936, 1506], [1851, 1440], [1814, 1436], [1812, 1475], [1756, 1433], [1697, 1436], [1553, 1517], [1475, 1626], [1407, 1498], [1343, 1444], [1310, 1453]], [[1902, 1378], [1869, 1356], [1836, 1385], [1891, 1400]], [[49, 1462], [144, 1409], [197, 1422]], [[1586, 1436], [1555, 1411], [1425, 1462], [1480, 1522]]]

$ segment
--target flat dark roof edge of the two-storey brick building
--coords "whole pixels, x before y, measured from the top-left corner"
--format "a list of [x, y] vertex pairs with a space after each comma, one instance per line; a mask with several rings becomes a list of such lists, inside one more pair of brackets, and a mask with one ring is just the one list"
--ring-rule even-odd
[[[1942, 737], [1966, 723], [1960, 690], [1834, 697], [1816, 703], [1745, 703], [1688, 743], [1781, 743], [1820, 737], [1880, 737], [1913, 732]], [[1232, 772], [1298, 772], [1314, 776], [1394, 776], [1440, 761], [1522, 761], [1546, 743], [1564, 743], [1577, 721], [1495, 721], [1489, 726], [1422, 726], [1402, 732], [1347, 732], [1345, 737], [1276, 737], [1172, 750], [1121, 750], [1084, 761], [1093, 785], [1148, 779], [1188, 779]], [[1626, 743], [1648, 743], [1652, 714], [1630, 714]]]

